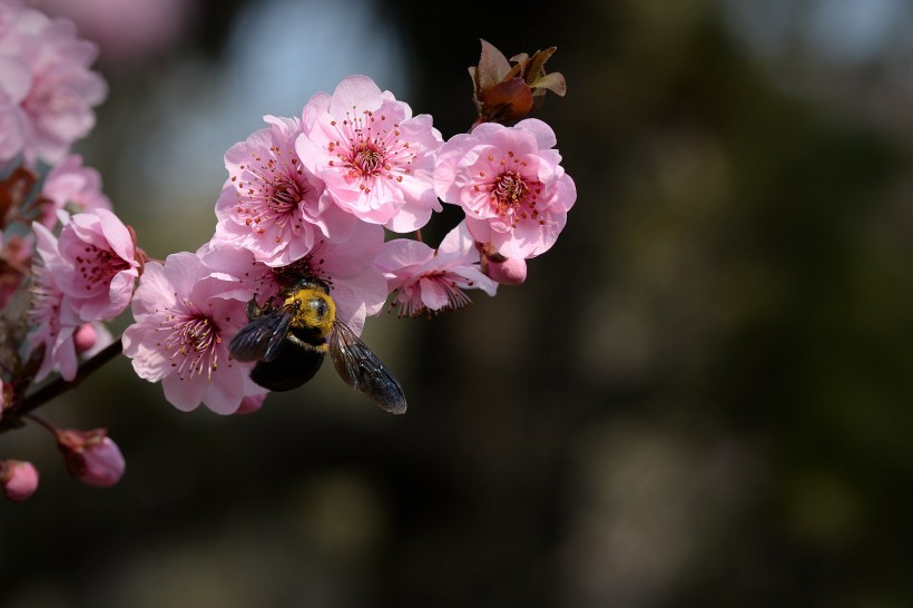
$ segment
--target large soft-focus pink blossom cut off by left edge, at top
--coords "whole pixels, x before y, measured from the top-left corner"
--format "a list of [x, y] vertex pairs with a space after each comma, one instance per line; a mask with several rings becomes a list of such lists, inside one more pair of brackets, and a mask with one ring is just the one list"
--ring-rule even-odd
[[95, 126], [92, 106], [107, 95], [88, 69], [98, 50], [66, 19], [7, 3], [0, 28], [0, 161], [59, 161]]

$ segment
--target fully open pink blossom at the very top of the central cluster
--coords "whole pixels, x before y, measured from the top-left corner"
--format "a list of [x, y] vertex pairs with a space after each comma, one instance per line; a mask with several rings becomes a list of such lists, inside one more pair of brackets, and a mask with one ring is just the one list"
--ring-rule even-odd
[[431, 116], [413, 117], [366, 76], [345, 78], [332, 96], [312, 97], [302, 130], [298, 157], [346, 212], [403, 233], [441, 210], [432, 184], [441, 134]]

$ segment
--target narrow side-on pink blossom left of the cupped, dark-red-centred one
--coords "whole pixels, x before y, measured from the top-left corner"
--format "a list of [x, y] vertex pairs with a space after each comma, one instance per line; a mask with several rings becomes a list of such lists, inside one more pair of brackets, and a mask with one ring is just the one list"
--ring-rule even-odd
[[58, 269], [66, 266], [58, 251], [57, 238], [41, 224], [32, 224], [40, 263], [32, 267], [31, 306], [29, 323], [35, 327], [28, 336], [29, 353], [45, 349], [36, 381], [58, 371], [63, 380], [76, 377], [77, 355], [73, 333], [79, 317], [60, 290]]

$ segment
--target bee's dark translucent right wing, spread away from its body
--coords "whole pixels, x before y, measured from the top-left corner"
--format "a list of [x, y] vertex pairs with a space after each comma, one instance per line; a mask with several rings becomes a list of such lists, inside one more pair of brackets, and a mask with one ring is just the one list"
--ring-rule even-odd
[[381, 363], [355, 332], [340, 320], [330, 334], [330, 357], [343, 381], [393, 414], [405, 412], [400, 381]]

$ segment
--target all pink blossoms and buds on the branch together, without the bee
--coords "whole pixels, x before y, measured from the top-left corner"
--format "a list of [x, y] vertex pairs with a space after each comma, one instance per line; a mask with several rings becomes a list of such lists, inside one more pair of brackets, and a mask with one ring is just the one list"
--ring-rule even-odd
[[[483, 63], [485, 52], [492, 57], [483, 46]], [[523, 110], [523, 98], [510, 100], [514, 124], [505, 125], [491, 102], [503, 95], [478, 90], [487, 114], [480, 109], [471, 133], [445, 140], [431, 116], [414, 115], [366, 76], [350, 76], [332, 94], [314, 95], [300, 116], [266, 116], [232, 146], [209, 241], [148, 259], [101, 194], [98, 173], [69, 154], [105, 95], [88, 69], [94, 56], [68, 22], [0, 0], [0, 303], [30, 293], [21, 347], [0, 370], [0, 432], [4, 415], [36, 420], [55, 433], [70, 473], [90, 484], [120, 478], [119, 450], [101, 429], [61, 431], [35, 416], [23, 405], [33, 382], [51, 373], [77, 380], [80, 357], [111, 344], [139, 377], [161, 382], [179, 410], [255, 411], [267, 391], [251, 379], [256, 362], [233, 357], [229, 343], [252, 304], [279, 302], [288, 276], [325, 284], [335, 320], [355, 334], [387, 302], [400, 316], [461, 308], [471, 290], [491, 296], [499, 284], [522, 283], [527, 261], [554, 245], [576, 200], [554, 133], [526, 117], [532, 104]], [[519, 76], [503, 69], [507, 60], [479, 69], [531, 82], [510, 90], [532, 96], [536, 82], [554, 87], [540, 73], [543, 61], [527, 73], [522, 59]], [[432, 246], [421, 231], [443, 205], [464, 217]], [[112, 342], [105, 323], [128, 307], [134, 323]], [[0, 461], [11, 499], [37, 480], [30, 464]]]

